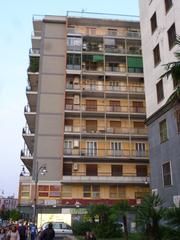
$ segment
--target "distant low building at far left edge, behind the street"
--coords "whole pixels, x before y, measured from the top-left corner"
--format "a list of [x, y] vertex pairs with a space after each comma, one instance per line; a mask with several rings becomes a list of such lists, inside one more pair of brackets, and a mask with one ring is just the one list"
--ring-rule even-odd
[[0, 196], [0, 211], [16, 209], [18, 206], [18, 199], [13, 196], [4, 197]]

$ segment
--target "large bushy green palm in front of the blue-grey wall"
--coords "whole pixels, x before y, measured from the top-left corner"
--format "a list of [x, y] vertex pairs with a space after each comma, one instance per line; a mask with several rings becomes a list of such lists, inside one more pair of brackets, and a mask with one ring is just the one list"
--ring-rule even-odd
[[149, 240], [161, 240], [160, 220], [165, 214], [159, 195], [146, 195], [137, 210], [137, 223], [143, 227]]

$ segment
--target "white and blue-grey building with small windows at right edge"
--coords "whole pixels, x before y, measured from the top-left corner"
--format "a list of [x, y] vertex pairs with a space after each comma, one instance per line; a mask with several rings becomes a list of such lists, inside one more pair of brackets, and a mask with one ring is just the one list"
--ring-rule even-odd
[[180, 201], [180, 104], [170, 96], [177, 87], [172, 77], [161, 77], [165, 64], [177, 61], [180, 35], [179, 0], [140, 0], [151, 187], [166, 205]]

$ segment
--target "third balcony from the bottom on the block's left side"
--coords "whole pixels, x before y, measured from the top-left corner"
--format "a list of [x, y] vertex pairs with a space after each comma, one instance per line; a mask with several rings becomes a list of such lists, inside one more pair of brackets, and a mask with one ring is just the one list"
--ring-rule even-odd
[[29, 105], [24, 107], [24, 115], [31, 132], [35, 131], [36, 107], [30, 108]]

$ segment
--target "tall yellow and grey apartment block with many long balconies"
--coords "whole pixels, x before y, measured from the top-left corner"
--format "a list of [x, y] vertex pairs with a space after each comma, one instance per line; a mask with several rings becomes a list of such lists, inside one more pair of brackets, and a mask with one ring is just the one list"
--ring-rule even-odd
[[139, 22], [45, 16], [33, 27], [20, 206], [137, 204], [149, 191]]

